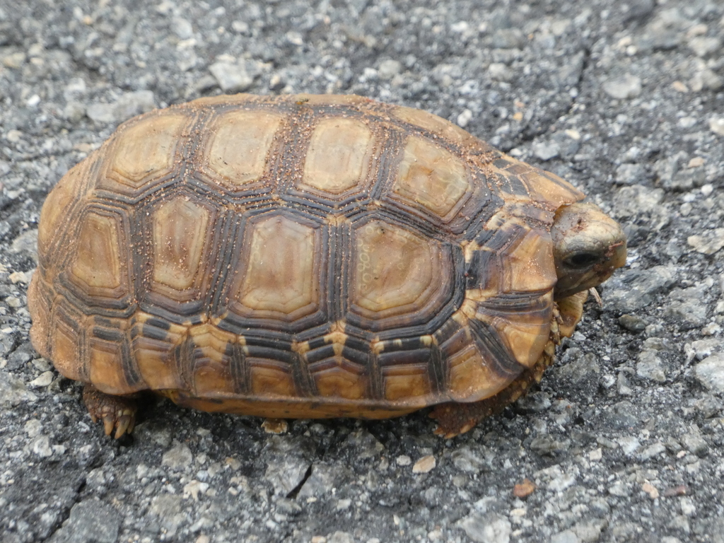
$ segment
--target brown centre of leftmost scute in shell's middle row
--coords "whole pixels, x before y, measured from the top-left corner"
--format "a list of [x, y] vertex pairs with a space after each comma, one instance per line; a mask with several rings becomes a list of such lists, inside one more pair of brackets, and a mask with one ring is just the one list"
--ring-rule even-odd
[[83, 217], [70, 275], [86, 294], [120, 298], [127, 292], [120, 237], [116, 216], [88, 211]]

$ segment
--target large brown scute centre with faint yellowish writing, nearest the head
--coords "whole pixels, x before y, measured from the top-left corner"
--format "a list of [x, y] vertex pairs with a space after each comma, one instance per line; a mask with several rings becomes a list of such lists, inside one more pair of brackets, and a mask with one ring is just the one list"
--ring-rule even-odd
[[431, 316], [447, 302], [445, 281], [452, 272], [432, 240], [389, 222], [358, 227], [353, 255], [352, 303], [371, 319], [417, 313]]

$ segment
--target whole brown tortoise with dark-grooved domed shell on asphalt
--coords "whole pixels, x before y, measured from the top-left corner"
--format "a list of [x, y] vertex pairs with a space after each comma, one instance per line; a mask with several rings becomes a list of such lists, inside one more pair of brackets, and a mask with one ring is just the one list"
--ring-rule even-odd
[[49, 193], [35, 349], [106, 434], [136, 395], [268, 418], [434, 405], [467, 432], [520, 397], [620, 226], [555, 174], [359, 96], [216, 96], [121, 125]]

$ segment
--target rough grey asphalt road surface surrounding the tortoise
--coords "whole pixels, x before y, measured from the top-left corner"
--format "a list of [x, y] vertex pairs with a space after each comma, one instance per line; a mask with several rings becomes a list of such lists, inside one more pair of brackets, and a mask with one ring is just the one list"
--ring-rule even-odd
[[[455, 439], [162, 400], [108, 439], [28, 340], [43, 198], [125, 119], [239, 91], [450, 119], [588, 193], [627, 266]], [[0, 0], [0, 541], [723, 542], [723, 151], [719, 0]]]

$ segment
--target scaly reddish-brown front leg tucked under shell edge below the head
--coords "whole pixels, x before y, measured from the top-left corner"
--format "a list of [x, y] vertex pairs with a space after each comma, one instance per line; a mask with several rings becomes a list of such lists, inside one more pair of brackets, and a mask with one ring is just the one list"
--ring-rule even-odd
[[539, 383], [543, 371], [555, 360], [555, 346], [561, 337], [571, 337], [576, 324], [581, 320], [584, 302], [588, 291], [577, 292], [557, 303], [555, 323], [551, 327], [550, 337], [543, 353], [536, 363], [526, 369], [505, 390], [484, 400], [472, 403], [441, 403], [436, 405], [430, 417], [437, 420], [438, 434], [450, 439], [464, 434], [478, 424], [483, 418], [500, 413], [505, 407], [518, 400], [528, 392], [531, 385]]

